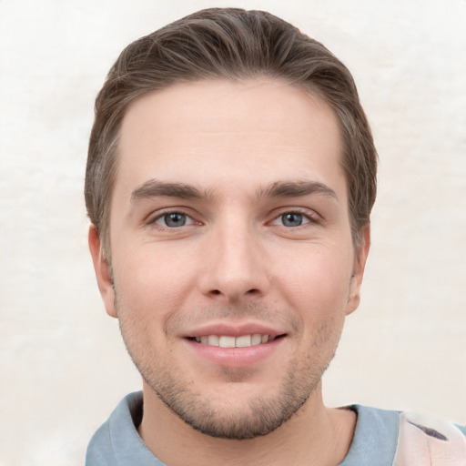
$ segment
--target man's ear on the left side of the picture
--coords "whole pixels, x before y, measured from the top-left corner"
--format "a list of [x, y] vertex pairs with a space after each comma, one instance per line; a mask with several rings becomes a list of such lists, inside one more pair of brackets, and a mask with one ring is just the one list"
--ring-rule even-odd
[[113, 288], [113, 279], [109, 265], [102, 254], [100, 238], [97, 228], [94, 225], [89, 227], [89, 250], [91, 251], [92, 261], [94, 262], [94, 270], [96, 271], [96, 279], [100, 295], [104, 300], [106, 313], [111, 317], [117, 317], [115, 309], [115, 289]]

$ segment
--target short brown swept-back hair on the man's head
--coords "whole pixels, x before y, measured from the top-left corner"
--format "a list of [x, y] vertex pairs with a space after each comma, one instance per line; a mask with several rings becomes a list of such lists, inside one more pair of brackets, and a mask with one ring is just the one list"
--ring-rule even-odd
[[127, 46], [96, 98], [86, 167], [86, 208], [109, 258], [110, 199], [119, 129], [138, 96], [201, 79], [268, 76], [301, 86], [333, 108], [343, 140], [340, 164], [349, 195], [355, 244], [370, 222], [377, 152], [349, 70], [316, 40], [262, 11], [210, 8], [188, 15]]

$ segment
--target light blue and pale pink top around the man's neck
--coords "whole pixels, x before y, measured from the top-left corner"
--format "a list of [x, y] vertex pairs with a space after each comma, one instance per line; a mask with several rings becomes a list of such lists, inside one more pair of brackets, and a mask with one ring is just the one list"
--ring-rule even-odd
[[[420, 424], [414, 414], [404, 419], [404, 413], [399, 411], [361, 405], [349, 408], [358, 415], [356, 431], [346, 458], [338, 466], [418, 466], [431, 464], [432, 455], [442, 461], [445, 458], [448, 461], [452, 455], [451, 462], [434, 461], [432, 464], [466, 465], [466, 431], [461, 428], [438, 421], [434, 425], [422, 417], [424, 421]], [[130, 393], [94, 434], [87, 447], [86, 466], [167, 466], [157, 460], [139, 437], [135, 425], [141, 418], [142, 393]], [[450, 447], [450, 439], [442, 433], [445, 431], [454, 437], [453, 447], [457, 451]], [[403, 432], [402, 436], [400, 432]], [[407, 439], [404, 444], [403, 439]], [[416, 446], [410, 448], [413, 442]], [[464, 456], [461, 456], [462, 448]], [[440, 449], [440, 453], [436, 449]], [[412, 455], [415, 455], [415, 463], [412, 463]], [[457, 458], [459, 460], [455, 462]], [[427, 460], [421, 462], [424, 459]]]

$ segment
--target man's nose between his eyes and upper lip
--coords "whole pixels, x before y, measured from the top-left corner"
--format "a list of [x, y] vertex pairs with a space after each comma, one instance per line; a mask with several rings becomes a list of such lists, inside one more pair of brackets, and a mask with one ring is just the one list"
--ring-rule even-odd
[[260, 235], [239, 221], [212, 228], [198, 276], [201, 292], [224, 303], [249, 302], [269, 288], [267, 255]]

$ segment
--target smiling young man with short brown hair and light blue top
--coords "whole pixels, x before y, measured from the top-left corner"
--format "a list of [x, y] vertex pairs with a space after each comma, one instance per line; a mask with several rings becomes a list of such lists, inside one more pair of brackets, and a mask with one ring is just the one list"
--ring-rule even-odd
[[456, 426], [322, 401], [376, 161], [347, 68], [273, 15], [204, 10], [125, 49], [96, 100], [86, 206], [143, 391], [86, 464], [464, 464]]

